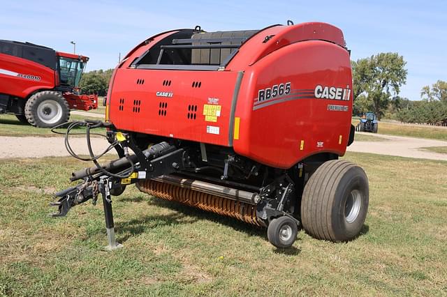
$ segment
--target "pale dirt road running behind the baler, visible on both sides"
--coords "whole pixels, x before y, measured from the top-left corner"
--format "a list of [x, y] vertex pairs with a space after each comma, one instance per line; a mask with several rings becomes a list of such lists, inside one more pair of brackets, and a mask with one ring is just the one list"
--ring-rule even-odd
[[[358, 133], [362, 134], [362, 132]], [[373, 133], [367, 133], [367, 135], [388, 140], [383, 142], [354, 142], [348, 147], [348, 151], [447, 161], [447, 154], [420, 149], [427, 146], [447, 146], [447, 142]], [[88, 154], [85, 138], [73, 137], [70, 139], [70, 144], [76, 153]], [[93, 138], [92, 146], [95, 153], [99, 153], [108, 146], [108, 142], [103, 138]], [[0, 137], [0, 158], [41, 158], [64, 155], [68, 155], [64, 146], [64, 137]]]

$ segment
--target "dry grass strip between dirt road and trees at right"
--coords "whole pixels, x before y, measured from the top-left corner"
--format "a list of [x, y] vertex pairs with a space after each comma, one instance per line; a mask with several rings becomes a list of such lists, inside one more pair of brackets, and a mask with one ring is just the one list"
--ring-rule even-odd
[[[358, 125], [358, 119], [352, 119], [353, 125]], [[379, 122], [378, 134], [418, 137], [427, 139], [447, 140], [447, 128], [430, 127], [428, 125], [405, 125], [402, 123]]]

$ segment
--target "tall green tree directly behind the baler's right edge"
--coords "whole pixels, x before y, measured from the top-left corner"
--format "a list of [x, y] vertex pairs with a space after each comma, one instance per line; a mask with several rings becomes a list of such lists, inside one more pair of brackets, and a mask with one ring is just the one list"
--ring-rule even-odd
[[[397, 53], [380, 53], [352, 63], [354, 100], [364, 95], [362, 108], [370, 108], [381, 118], [390, 101], [397, 98], [406, 82], [404, 57]], [[360, 104], [361, 102], [359, 102]]]

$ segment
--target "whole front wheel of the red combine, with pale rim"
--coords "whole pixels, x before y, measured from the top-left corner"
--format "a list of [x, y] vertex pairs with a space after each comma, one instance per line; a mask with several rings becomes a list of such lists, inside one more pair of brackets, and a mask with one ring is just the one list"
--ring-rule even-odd
[[61, 93], [42, 91], [27, 100], [25, 116], [31, 125], [52, 128], [68, 121], [70, 108]]

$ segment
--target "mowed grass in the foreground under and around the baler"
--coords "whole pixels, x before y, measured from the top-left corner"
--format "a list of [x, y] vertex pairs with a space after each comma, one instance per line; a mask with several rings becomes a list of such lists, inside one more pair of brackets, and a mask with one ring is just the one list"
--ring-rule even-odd
[[348, 153], [369, 177], [369, 213], [349, 243], [304, 231], [277, 250], [266, 230], [138, 192], [113, 201], [117, 239], [104, 252], [103, 209], [48, 218], [51, 192], [86, 163], [0, 160], [0, 295], [296, 296], [447, 292], [447, 162]]

